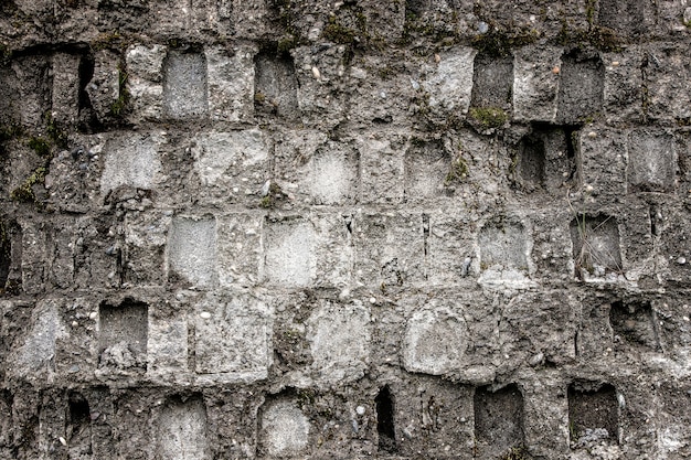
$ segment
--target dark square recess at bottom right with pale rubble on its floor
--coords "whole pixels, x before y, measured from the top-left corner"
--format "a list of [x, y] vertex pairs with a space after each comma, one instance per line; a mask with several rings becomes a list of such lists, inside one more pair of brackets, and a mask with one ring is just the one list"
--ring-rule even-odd
[[568, 386], [568, 434], [572, 447], [617, 442], [619, 437], [617, 392], [609, 384], [573, 383]]

